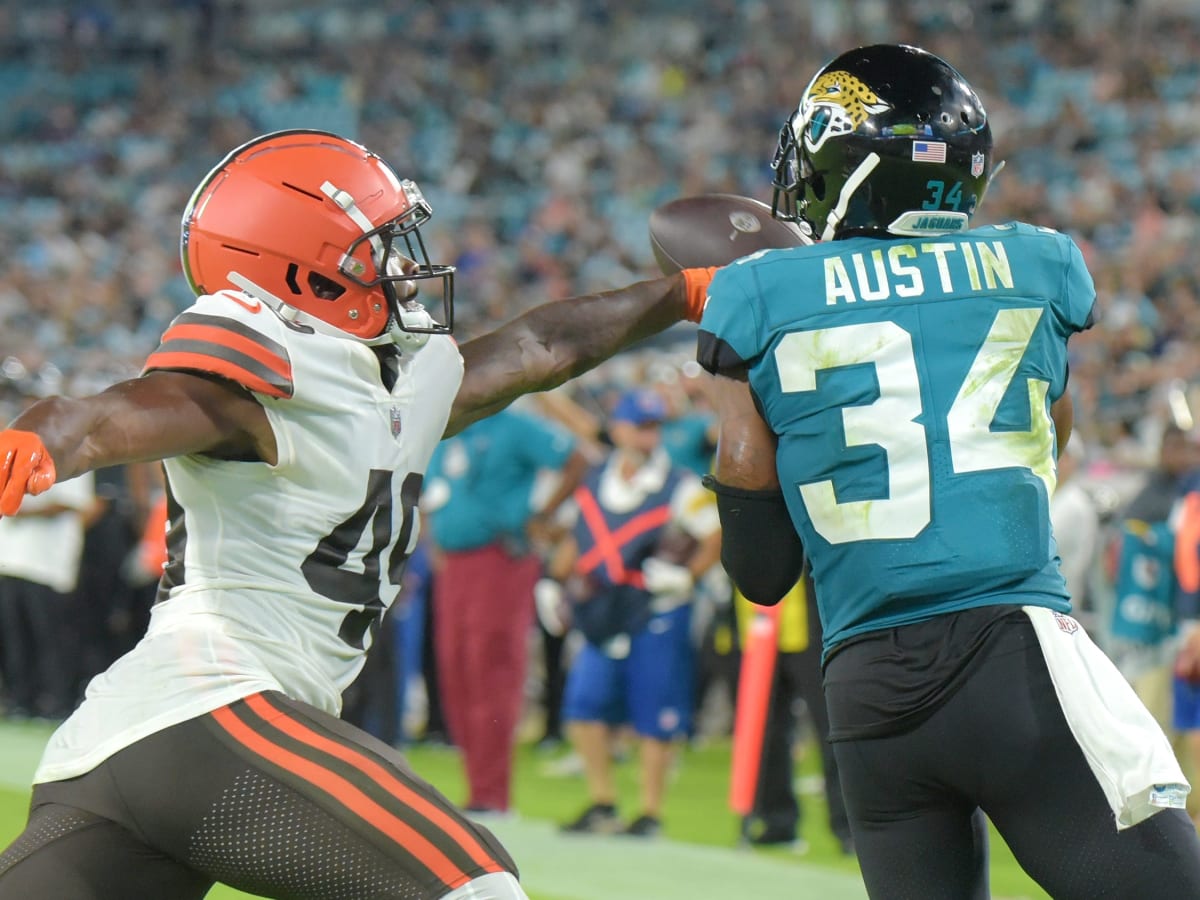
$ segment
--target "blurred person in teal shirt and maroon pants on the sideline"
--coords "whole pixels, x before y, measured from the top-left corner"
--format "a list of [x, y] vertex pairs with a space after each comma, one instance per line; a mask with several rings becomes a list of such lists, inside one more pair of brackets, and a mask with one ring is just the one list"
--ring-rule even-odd
[[[506, 409], [442, 442], [430, 462], [433, 647], [450, 738], [461, 749], [468, 811], [505, 812], [524, 697], [533, 588], [541, 559], [530, 523], [575, 490], [587, 460], [575, 437]], [[539, 479], [558, 485], [535, 506]]]

